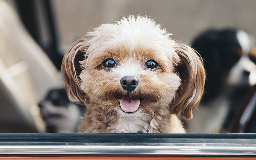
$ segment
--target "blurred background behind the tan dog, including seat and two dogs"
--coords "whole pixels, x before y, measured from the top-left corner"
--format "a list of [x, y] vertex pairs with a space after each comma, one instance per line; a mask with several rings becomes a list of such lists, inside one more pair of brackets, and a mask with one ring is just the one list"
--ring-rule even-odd
[[72, 133], [85, 107], [59, 72], [100, 23], [147, 15], [205, 60], [206, 93], [188, 133], [256, 133], [255, 0], [0, 0], [0, 132]]

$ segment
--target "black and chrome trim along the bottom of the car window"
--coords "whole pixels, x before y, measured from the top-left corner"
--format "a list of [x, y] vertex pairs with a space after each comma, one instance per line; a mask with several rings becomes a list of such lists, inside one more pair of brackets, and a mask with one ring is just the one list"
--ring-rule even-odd
[[256, 157], [256, 134], [0, 134], [1, 155]]

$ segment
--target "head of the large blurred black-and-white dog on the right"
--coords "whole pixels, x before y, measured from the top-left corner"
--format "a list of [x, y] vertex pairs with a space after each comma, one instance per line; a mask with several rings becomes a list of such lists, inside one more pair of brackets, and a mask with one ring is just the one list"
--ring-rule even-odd
[[192, 46], [206, 62], [206, 94], [203, 102], [211, 102], [224, 88], [245, 89], [249, 83], [255, 84], [255, 78], [249, 77], [256, 71], [253, 35], [236, 28], [208, 29], [195, 37]]

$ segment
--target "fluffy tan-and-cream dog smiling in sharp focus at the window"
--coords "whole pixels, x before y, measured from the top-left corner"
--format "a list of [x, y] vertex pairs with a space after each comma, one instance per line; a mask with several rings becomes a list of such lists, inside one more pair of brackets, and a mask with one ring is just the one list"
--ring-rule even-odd
[[75, 41], [61, 73], [86, 105], [79, 133], [185, 133], [204, 92], [202, 59], [146, 16], [101, 24]]

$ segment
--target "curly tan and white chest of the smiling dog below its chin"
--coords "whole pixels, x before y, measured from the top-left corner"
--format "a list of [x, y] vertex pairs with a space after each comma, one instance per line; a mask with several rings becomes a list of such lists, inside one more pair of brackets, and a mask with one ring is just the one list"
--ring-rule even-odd
[[164, 107], [161, 113], [155, 111], [158, 116], [143, 113], [141, 109], [133, 114], [118, 110], [115, 115], [104, 115], [101, 108], [97, 103], [88, 106], [81, 118], [79, 133], [185, 133], [178, 117], [168, 116]]

